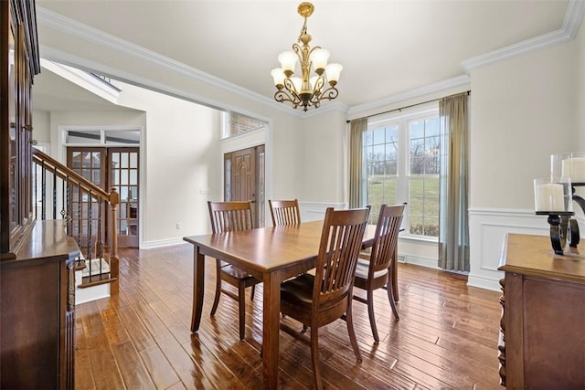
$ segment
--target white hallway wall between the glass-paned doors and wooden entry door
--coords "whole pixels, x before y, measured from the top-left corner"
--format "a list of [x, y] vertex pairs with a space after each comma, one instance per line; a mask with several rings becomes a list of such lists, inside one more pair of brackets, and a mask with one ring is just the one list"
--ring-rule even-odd
[[122, 85], [118, 101], [147, 112], [141, 147], [141, 248], [207, 233], [207, 199], [222, 194], [219, 112], [131, 85]]

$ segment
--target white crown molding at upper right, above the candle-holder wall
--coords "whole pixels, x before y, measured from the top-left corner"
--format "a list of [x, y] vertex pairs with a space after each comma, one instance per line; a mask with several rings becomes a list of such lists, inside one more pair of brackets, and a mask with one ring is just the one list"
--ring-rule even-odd
[[463, 69], [466, 74], [469, 74], [473, 69], [482, 68], [495, 62], [570, 42], [577, 37], [584, 11], [585, 2], [583, 0], [570, 0], [561, 29], [466, 59], [462, 62]]

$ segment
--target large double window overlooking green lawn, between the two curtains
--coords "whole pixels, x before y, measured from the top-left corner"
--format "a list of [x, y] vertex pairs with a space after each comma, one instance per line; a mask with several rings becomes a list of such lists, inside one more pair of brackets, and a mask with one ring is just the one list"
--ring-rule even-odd
[[402, 227], [407, 235], [439, 235], [441, 132], [437, 103], [408, 113], [371, 118], [363, 134], [363, 163], [370, 223], [382, 204], [407, 202]]

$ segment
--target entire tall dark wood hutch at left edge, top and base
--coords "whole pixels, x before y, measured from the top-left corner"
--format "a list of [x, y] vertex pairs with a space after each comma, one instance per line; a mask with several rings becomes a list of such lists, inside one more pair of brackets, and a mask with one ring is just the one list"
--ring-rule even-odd
[[0, 388], [74, 388], [79, 248], [32, 213], [34, 0], [0, 1]]

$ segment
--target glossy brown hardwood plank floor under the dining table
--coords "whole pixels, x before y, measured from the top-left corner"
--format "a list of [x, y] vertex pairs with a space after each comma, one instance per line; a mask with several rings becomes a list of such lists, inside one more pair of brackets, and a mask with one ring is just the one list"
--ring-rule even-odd
[[[239, 341], [234, 300], [222, 297], [215, 317], [208, 316], [215, 267], [207, 258], [204, 317], [191, 334], [192, 247], [120, 252], [119, 291], [76, 308], [77, 389], [261, 388], [261, 284], [254, 301], [248, 299], [246, 338]], [[500, 293], [465, 283], [461, 276], [399, 264], [400, 321], [386, 292], [376, 291], [378, 345], [366, 305], [353, 303], [361, 364], [345, 322], [320, 329], [324, 387], [503, 388], [496, 353]], [[280, 338], [279, 388], [313, 388], [309, 346], [285, 332]]]

